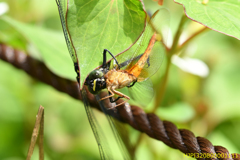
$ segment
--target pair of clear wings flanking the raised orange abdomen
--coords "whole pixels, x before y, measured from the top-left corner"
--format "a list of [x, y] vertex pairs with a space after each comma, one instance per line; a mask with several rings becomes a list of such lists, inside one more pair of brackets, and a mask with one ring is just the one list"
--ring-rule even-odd
[[145, 31], [138, 42], [128, 51], [117, 57], [119, 62], [128, 61], [129, 64], [125, 68], [123, 67], [123, 69], [133, 67], [134, 64], [138, 62], [136, 57], [139, 57], [145, 52], [152, 35], [154, 32], [157, 33], [157, 39], [160, 40], [160, 43], [155, 43], [148, 60], [138, 77], [138, 81], [143, 81], [152, 76], [161, 66], [164, 57], [164, 44], [167, 43], [169, 22], [170, 14], [168, 10], [161, 9], [155, 12], [151, 20], [148, 21]]

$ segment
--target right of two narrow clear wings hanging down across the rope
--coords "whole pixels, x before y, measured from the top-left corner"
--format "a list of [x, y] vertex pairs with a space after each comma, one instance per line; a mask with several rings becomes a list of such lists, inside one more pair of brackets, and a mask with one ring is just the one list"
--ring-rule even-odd
[[[95, 95], [95, 97], [96, 97], [97, 101], [99, 101], [101, 99], [101, 97], [99, 95]], [[107, 99], [107, 100], [104, 100], [104, 101], [109, 101], [109, 100]], [[117, 117], [118, 116], [118, 109], [117, 109], [117, 107], [111, 108], [111, 109], [107, 109], [104, 106], [104, 101], [99, 101], [99, 105], [100, 105], [102, 111], [105, 113], [105, 115], [107, 117], [108, 123], [109, 123], [109, 125], [111, 127], [111, 130], [112, 130], [113, 135], [115, 137], [115, 140], [117, 142], [118, 148], [120, 149], [120, 152], [121, 152], [121, 155], [122, 155], [122, 159], [130, 160], [132, 158], [130, 158], [130, 154], [129, 154], [128, 150], [126, 149], [126, 146], [124, 145], [123, 140], [122, 140], [122, 138], [119, 135], [119, 132], [117, 130], [116, 122], [112, 118], [112, 117]], [[112, 116], [109, 116], [109, 115], [112, 115]]]

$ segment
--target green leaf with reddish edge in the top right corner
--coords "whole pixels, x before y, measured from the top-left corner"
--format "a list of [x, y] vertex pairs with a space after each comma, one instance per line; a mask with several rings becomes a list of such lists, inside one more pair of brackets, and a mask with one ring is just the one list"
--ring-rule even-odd
[[215, 31], [240, 39], [240, 5], [236, 0], [175, 0], [186, 15]]

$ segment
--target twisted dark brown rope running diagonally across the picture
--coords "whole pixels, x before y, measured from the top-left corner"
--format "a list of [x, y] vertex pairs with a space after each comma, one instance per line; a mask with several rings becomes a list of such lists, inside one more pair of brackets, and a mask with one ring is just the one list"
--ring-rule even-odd
[[[58, 91], [65, 92], [75, 99], [82, 99], [77, 82], [58, 77], [44, 63], [27, 56], [24, 52], [0, 44], [0, 59], [11, 63], [16, 68], [24, 70], [30, 76], [53, 86]], [[95, 97], [89, 92], [87, 96], [90, 105], [99, 109]], [[121, 100], [118, 101], [118, 103], [121, 102]], [[111, 106], [111, 104], [107, 103], [106, 107], [108, 106]], [[145, 113], [137, 106], [130, 106], [130, 110], [127, 110], [124, 105], [117, 108], [118, 115], [114, 117], [119, 121], [128, 123], [133, 128], [146, 133], [148, 136], [162, 141], [171, 148], [179, 149], [181, 152], [187, 153], [196, 159], [240, 160], [240, 154], [231, 155], [226, 148], [213, 146], [207, 139], [195, 137], [189, 130], [177, 129], [173, 123], [161, 121], [155, 114]], [[205, 158], [206, 156], [214, 155], [216, 156], [215, 158]], [[197, 158], [198, 156], [199, 158]]]

